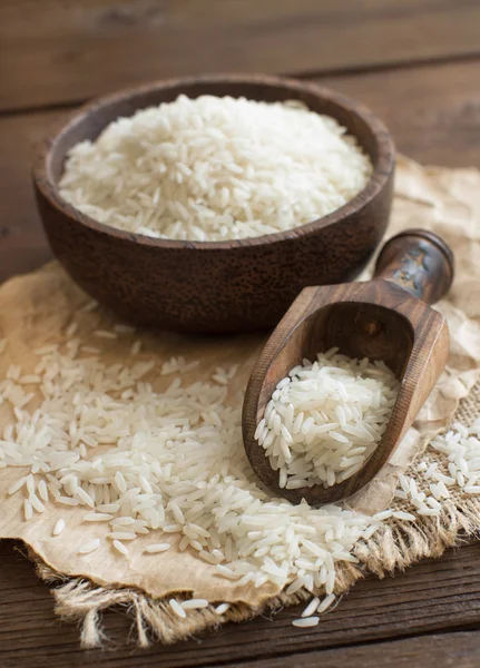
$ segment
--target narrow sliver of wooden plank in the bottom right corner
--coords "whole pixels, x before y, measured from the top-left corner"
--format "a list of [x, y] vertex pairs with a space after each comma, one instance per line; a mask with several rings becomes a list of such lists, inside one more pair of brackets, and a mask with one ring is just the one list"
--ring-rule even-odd
[[295, 657], [278, 657], [267, 661], [231, 664], [231, 668], [478, 668], [480, 665], [480, 631], [444, 633], [378, 642], [359, 647], [312, 651]]

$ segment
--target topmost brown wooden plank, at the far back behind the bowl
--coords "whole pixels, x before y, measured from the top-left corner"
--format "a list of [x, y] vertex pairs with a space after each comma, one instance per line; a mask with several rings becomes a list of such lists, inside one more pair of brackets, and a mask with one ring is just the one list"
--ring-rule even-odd
[[0, 109], [212, 71], [332, 72], [480, 52], [471, 0], [4, 0]]

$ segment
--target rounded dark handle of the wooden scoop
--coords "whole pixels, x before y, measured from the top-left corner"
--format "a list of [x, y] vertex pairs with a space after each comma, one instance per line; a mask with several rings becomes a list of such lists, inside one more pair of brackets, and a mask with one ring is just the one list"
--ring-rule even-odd
[[434, 304], [452, 284], [453, 253], [433, 232], [405, 229], [383, 246], [374, 277], [395, 283], [422, 302]]

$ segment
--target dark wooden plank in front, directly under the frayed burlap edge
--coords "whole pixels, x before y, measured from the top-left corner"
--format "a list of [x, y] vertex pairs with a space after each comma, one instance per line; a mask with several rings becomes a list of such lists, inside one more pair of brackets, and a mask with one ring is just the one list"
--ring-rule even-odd
[[[185, 668], [228, 666], [241, 661], [252, 661], [253, 666], [281, 666], [286, 656], [295, 655], [297, 662], [297, 652], [316, 652], [425, 632], [464, 630], [469, 625], [478, 625], [480, 613], [480, 546], [469, 544], [394, 578], [360, 582], [313, 629], [292, 627], [292, 620], [302, 610], [297, 607], [285, 609], [272, 618], [228, 625], [202, 640], [170, 647], [155, 645], [139, 650], [131, 640], [127, 645], [128, 621], [117, 612], [105, 616], [109, 650], [90, 650], [86, 655], [79, 649], [78, 629], [72, 625], [60, 625], [55, 619], [48, 588], [36, 580], [31, 564], [12, 551], [12, 544], [4, 541], [0, 546], [2, 667], [76, 667], [85, 666], [87, 659], [87, 665], [102, 668]], [[352, 656], [356, 651], [359, 647], [352, 649]], [[276, 658], [277, 661], [272, 664]], [[315, 665], [315, 661], [296, 665]], [[337, 665], [342, 661], [339, 660]], [[386, 664], [379, 664], [382, 665]], [[412, 666], [420, 665], [425, 664], [412, 662]]]

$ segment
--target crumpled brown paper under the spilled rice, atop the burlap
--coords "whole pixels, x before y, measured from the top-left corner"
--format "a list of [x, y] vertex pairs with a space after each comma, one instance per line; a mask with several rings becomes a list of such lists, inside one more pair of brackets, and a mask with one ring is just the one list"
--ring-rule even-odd
[[[376, 512], [391, 500], [399, 471], [406, 468], [427, 443], [429, 436], [447, 425], [460, 399], [466, 396], [480, 377], [480, 173], [474, 169], [449, 170], [423, 168], [404, 158], [399, 159], [395, 199], [389, 236], [406, 227], [425, 227], [441, 234], [455, 253], [457, 275], [451, 293], [438, 308], [448, 317], [451, 334], [451, 354], [448, 366], [413, 428], [406, 434], [392, 461], [378, 478], [352, 502], [354, 508]], [[31, 373], [38, 362], [33, 351], [49, 343], [61, 342], [74, 314], [88, 298], [65, 275], [57, 263], [23, 277], [17, 277], [0, 287], [0, 337], [8, 346], [0, 355], [0, 377], [10, 364], [21, 365]], [[106, 313], [80, 313], [79, 335], [88, 345], [98, 346], [92, 337], [96, 328], [108, 328], [111, 316]], [[229, 363], [241, 365], [232, 401], [239, 401], [236, 391], [246, 384], [252, 365], [264, 336], [252, 335], [225, 341], [196, 340], [165, 333], [141, 334], [146, 360], [159, 362], [183, 355], [200, 360], [200, 366], [190, 372], [189, 380], [209, 375], [216, 366]], [[106, 361], [118, 361], [128, 355], [131, 338], [126, 337], [105, 346]], [[157, 365], [158, 366], [158, 365]], [[161, 390], [165, 379], [148, 379]], [[30, 406], [35, 403], [30, 404]], [[30, 407], [29, 406], [29, 407]], [[0, 431], [10, 422], [10, 409], [0, 405]], [[129, 558], [114, 553], [107, 541], [91, 554], [79, 556], [78, 548], [87, 538], [108, 532], [104, 524], [81, 524], [85, 509], [60, 510], [48, 504], [43, 514], [23, 522], [20, 494], [8, 497], [12, 482], [25, 474], [25, 469], [0, 470], [1, 538], [21, 538], [55, 571], [68, 576], [85, 576], [102, 586], [137, 587], [154, 598], [175, 591], [188, 591], [195, 598], [210, 601], [244, 601], [252, 607], [278, 593], [273, 584], [255, 589], [239, 588], [215, 574], [214, 568], [198, 560], [194, 553], [168, 552], [144, 556], [146, 542], [158, 538], [140, 537], [129, 546]], [[52, 528], [59, 517], [67, 520], [68, 529], [53, 538]], [[164, 540], [164, 537], [161, 537]], [[175, 544], [175, 539], [173, 539]]]

